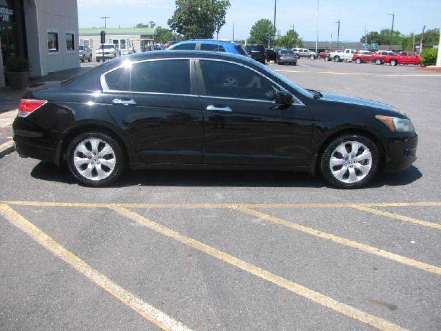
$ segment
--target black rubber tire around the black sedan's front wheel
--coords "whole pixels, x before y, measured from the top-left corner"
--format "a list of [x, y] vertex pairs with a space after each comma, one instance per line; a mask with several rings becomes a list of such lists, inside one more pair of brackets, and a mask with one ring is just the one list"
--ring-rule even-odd
[[[359, 181], [352, 182], [352, 183], [338, 180], [333, 175], [333, 173], [331, 171], [331, 165], [330, 165], [331, 157], [333, 156], [333, 153], [336, 150], [336, 148], [346, 142], [362, 143], [365, 147], [367, 147], [367, 149], [370, 151], [370, 154], [371, 154], [371, 167], [370, 167], [369, 171], [366, 173], [366, 175], [362, 179], [360, 179]], [[360, 147], [359, 151], [363, 152], [363, 148]], [[325, 180], [328, 181], [329, 184], [332, 184], [333, 186], [335, 186], [337, 188], [359, 188], [359, 187], [362, 187], [363, 185], [366, 185], [367, 183], [369, 183], [375, 177], [375, 175], [377, 174], [377, 171], [378, 171], [379, 164], [380, 164], [379, 160], [380, 160], [379, 159], [379, 151], [378, 151], [377, 145], [372, 140], [367, 138], [366, 136], [358, 135], [358, 134], [340, 135], [339, 137], [336, 137], [335, 139], [333, 139], [325, 147], [324, 152], [321, 154], [320, 169], [321, 169], [321, 173], [322, 173], [323, 177], [325, 178]], [[348, 165], [348, 164], [346, 163], [345, 165]], [[369, 165], [369, 163], [368, 163], [368, 165]], [[333, 169], [339, 170], [338, 168], [336, 169], [335, 167], [338, 167], [338, 165], [334, 165]], [[351, 168], [352, 167], [353, 166], [351, 165]], [[343, 168], [343, 165], [342, 165], [342, 168]], [[342, 169], [342, 168], [340, 168], [340, 169]], [[355, 168], [356, 167], [354, 166], [353, 167], [354, 172], [359, 171], [358, 169], [355, 169]], [[348, 171], [349, 171], [349, 168], [348, 168]], [[349, 175], [348, 172], [345, 172], [345, 174]], [[357, 175], [357, 176], [359, 176], [359, 175]]]

